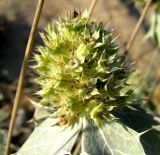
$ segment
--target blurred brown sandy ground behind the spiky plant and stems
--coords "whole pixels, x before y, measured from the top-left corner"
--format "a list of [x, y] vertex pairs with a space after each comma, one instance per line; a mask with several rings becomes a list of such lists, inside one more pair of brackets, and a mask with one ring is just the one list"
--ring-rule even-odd
[[[0, 0], [0, 145], [4, 143], [8, 130], [17, 81], [37, 2], [38, 0]], [[68, 10], [83, 12], [90, 5], [91, 0], [46, 0], [38, 32], [43, 31], [43, 28], [48, 23], [54, 22], [58, 16], [65, 15]], [[121, 46], [120, 53], [123, 53], [141, 11], [134, 5], [133, 0], [98, 0], [91, 18], [97, 22], [103, 21], [106, 27], [113, 28], [114, 36], [120, 34], [116, 42]], [[136, 73], [132, 81], [137, 86], [136, 95], [145, 98], [144, 106], [147, 110], [160, 116], [160, 49], [155, 42], [145, 39], [151, 13], [152, 8], [128, 57], [135, 62]], [[34, 47], [42, 44], [38, 32]], [[157, 50], [158, 52], [155, 52]], [[18, 150], [34, 127], [32, 123], [34, 107], [29, 101], [36, 100], [34, 96], [36, 86], [31, 82], [34, 76], [32, 72], [30, 68], [27, 71], [13, 134], [12, 152]]]

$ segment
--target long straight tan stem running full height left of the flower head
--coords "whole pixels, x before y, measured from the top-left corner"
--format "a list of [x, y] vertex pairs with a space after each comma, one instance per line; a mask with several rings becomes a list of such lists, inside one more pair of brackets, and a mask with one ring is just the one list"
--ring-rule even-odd
[[39, 0], [37, 8], [36, 8], [36, 13], [35, 13], [35, 17], [33, 20], [32, 28], [31, 28], [30, 36], [28, 39], [25, 56], [24, 56], [24, 60], [23, 60], [22, 68], [21, 68], [21, 73], [20, 73], [20, 77], [18, 81], [18, 87], [17, 87], [16, 96], [14, 100], [13, 110], [11, 114], [8, 137], [6, 141], [5, 155], [9, 154], [10, 143], [11, 143], [12, 133], [13, 133], [14, 125], [15, 125], [15, 119], [16, 119], [16, 115], [17, 115], [17, 111], [19, 107], [20, 96], [21, 96], [23, 85], [24, 85], [24, 79], [26, 75], [28, 61], [30, 59], [31, 50], [33, 47], [33, 41], [35, 39], [36, 30], [37, 30], [37, 26], [38, 26], [43, 4], [44, 4], [44, 0]]

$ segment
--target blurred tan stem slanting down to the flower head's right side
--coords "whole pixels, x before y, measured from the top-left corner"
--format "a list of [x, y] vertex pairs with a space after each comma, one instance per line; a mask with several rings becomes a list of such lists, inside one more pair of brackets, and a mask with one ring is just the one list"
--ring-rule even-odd
[[127, 47], [126, 47], [127, 48], [127, 52], [132, 47], [132, 44], [133, 44], [133, 42], [134, 42], [134, 40], [136, 38], [136, 35], [137, 35], [137, 33], [138, 33], [139, 29], [140, 29], [141, 24], [142, 24], [142, 22], [143, 22], [143, 20], [144, 20], [144, 18], [146, 16], [148, 10], [149, 10], [149, 7], [150, 7], [151, 3], [152, 3], [152, 0], [148, 0], [146, 5], [145, 5], [145, 7], [144, 7], [144, 10], [143, 10], [138, 22], [137, 22], [132, 34], [131, 34], [131, 37], [129, 38], [129, 41], [128, 41], [128, 44], [127, 44]]

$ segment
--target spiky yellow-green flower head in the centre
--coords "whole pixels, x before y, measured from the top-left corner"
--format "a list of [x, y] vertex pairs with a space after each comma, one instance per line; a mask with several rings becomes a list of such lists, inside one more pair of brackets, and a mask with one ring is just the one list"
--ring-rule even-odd
[[41, 34], [44, 46], [37, 47], [34, 66], [41, 87], [37, 94], [61, 124], [74, 124], [81, 117], [110, 121], [113, 108], [131, 103], [130, 72], [111, 34], [86, 12], [60, 18]]

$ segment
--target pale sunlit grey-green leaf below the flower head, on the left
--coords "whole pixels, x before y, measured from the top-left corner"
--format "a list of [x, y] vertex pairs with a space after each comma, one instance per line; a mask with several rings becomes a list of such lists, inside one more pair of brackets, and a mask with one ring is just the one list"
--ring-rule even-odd
[[54, 124], [55, 120], [48, 118], [37, 126], [16, 155], [69, 154], [81, 129], [81, 122], [73, 128]]

